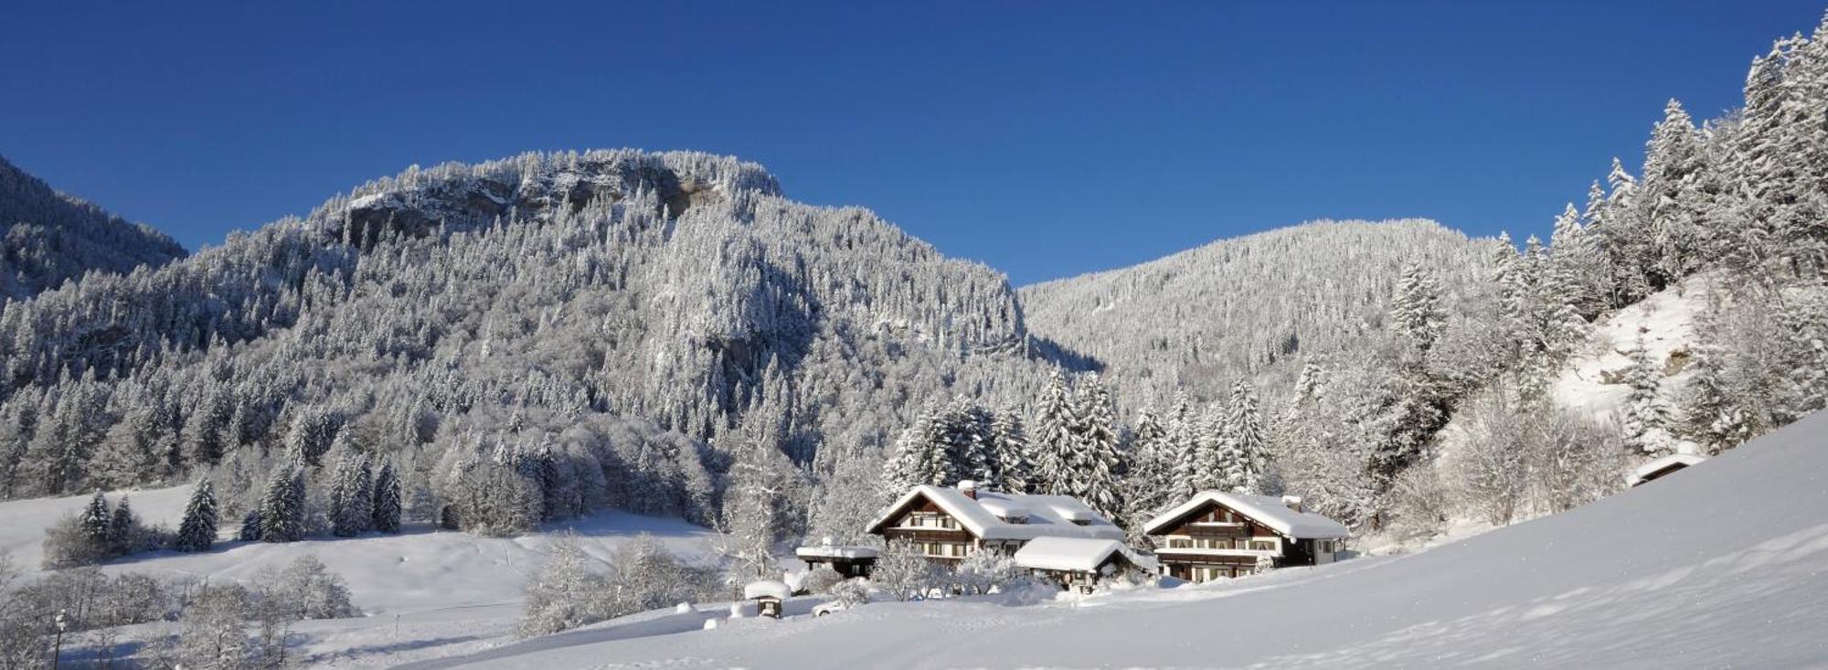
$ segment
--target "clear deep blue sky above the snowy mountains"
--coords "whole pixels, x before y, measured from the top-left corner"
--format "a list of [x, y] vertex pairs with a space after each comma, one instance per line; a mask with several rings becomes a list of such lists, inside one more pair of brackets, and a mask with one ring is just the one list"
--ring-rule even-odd
[[1824, 9], [93, 5], [7, 7], [0, 154], [190, 249], [411, 163], [696, 148], [1016, 284], [1313, 218], [1546, 232], [1665, 99], [1738, 104]]

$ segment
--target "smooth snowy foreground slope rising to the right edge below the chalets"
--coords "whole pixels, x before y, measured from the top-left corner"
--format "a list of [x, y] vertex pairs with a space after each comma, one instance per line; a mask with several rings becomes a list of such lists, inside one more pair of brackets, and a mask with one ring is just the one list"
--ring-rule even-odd
[[609, 639], [609, 626], [598, 643], [470, 666], [1828, 665], [1824, 436], [1817, 414], [1682, 474], [1419, 555], [1079, 604], [870, 604], [638, 639]]

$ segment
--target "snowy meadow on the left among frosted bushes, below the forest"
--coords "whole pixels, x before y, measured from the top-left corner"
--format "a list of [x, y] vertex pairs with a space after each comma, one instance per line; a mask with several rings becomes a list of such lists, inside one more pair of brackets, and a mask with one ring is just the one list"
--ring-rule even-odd
[[[188, 487], [172, 487], [128, 494], [144, 520], [175, 527], [190, 492]], [[119, 494], [110, 494], [108, 500], [119, 500]], [[11, 555], [31, 578], [42, 557], [44, 529], [80, 511], [84, 503], [88, 496], [0, 503], [0, 553]], [[223, 527], [225, 535], [230, 531]], [[552, 535], [561, 531], [576, 533], [579, 546], [594, 558], [642, 533], [654, 536], [675, 555], [698, 558], [709, 553], [711, 538], [711, 531], [682, 520], [611, 511], [552, 524], [543, 533], [512, 540], [411, 527], [404, 535], [294, 544], [227, 542], [196, 555], [144, 553], [104, 569], [245, 580], [269, 566], [313, 555], [344, 577], [351, 600], [366, 617], [302, 622], [298, 632], [307, 639], [305, 652], [314, 665], [388, 666], [512, 641], [526, 578], [545, 562]]]

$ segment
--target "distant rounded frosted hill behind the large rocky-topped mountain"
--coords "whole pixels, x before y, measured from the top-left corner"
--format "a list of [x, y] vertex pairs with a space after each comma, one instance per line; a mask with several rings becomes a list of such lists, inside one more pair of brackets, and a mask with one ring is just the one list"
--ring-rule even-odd
[[1174, 390], [1219, 397], [1276, 361], [1367, 348], [1406, 264], [1439, 269], [1459, 306], [1484, 258], [1479, 240], [1435, 222], [1314, 222], [1026, 286], [1020, 298], [1036, 337], [1161, 405]]

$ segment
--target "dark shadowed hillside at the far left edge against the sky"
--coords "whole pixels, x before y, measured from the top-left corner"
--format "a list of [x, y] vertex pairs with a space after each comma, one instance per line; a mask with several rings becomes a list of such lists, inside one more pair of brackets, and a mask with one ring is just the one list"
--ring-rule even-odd
[[185, 249], [165, 232], [51, 190], [0, 157], [0, 300], [82, 278], [163, 265]]

